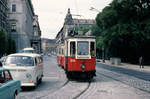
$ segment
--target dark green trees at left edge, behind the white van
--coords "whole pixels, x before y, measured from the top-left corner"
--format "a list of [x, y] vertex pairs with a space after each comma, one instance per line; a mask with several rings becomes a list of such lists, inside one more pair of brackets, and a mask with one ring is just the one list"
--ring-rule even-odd
[[15, 41], [11, 39], [11, 37], [6, 35], [5, 29], [1, 29], [0, 31], [0, 57], [15, 53], [16, 45]]

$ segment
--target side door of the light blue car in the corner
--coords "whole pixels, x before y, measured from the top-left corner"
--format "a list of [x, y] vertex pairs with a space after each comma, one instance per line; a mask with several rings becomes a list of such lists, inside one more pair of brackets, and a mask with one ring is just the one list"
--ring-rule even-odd
[[10, 88], [5, 78], [5, 71], [0, 72], [0, 98], [11, 99]]

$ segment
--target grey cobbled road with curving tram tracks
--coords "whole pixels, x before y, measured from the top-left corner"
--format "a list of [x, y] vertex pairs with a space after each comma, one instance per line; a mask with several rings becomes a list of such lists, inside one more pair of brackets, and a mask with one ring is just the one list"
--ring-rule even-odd
[[92, 81], [69, 81], [55, 56], [44, 56], [43, 82], [17, 99], [150, 99], [150, 73], [97, 63]]

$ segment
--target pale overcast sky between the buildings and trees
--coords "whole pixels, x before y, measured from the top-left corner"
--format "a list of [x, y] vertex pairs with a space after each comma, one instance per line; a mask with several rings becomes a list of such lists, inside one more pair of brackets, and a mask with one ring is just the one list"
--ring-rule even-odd
[[[95, 19], [98, 12], [111, 2], [112, 0], [32, 0], [42, 38], [49, 39], [54, 39], [62, 28], [68, 8], [76, 18]], [[89, 10], [91, 7], [97, 10]]]

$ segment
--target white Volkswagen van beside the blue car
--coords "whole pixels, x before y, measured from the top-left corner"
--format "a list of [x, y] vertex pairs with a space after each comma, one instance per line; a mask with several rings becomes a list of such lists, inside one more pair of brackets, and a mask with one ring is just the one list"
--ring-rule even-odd
[[16, 53], [7, 56], [3, 65], [10, 69], [13, 78], [21, 81], [21, 86], [36, 87], [42, 82], [43, 59], [35, 53]]

